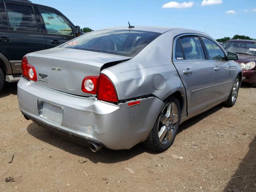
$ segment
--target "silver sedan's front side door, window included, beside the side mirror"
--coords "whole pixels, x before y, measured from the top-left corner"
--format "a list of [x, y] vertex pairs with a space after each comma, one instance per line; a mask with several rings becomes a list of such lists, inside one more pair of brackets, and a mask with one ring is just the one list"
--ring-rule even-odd
[[212, 102], [218, 102], [225, 99], [230, 94], [232, 86], [234, 67], [232, 61], [226, 60], [224, 51], [212, 40], [206, 37], [201, 37], [207, 50], [208, 58], [212, 65], [214, 65]]

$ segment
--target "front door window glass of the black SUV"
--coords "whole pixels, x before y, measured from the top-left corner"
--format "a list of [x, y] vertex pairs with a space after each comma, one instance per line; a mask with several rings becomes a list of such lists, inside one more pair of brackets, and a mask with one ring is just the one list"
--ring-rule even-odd
[[47, 33], [73, 35], [70, 22], [53, 10], [39, 8]]

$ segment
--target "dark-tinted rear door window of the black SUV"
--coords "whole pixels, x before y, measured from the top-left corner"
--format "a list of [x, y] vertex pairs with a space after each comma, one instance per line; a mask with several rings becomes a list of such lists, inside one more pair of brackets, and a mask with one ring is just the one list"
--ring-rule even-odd
[[6, 3], [10, 30], [38, 32], [32, 6]]

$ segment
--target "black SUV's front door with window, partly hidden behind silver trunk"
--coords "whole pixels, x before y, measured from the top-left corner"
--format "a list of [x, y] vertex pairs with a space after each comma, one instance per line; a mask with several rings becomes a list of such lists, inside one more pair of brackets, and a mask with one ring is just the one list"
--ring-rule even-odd
[[44, 23], [44, 36], [47, 48], [53, 48], [75, 38], [75, 29], [68, 19], [55, 10], [39, 7]]

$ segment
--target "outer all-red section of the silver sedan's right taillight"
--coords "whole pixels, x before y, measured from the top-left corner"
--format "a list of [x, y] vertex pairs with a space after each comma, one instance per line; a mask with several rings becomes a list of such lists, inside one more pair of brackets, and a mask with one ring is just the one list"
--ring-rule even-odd
[[100, 74], [98, 85], [98, 100], [118, 102], [118, 97], [114, 84], [104, 74]]

